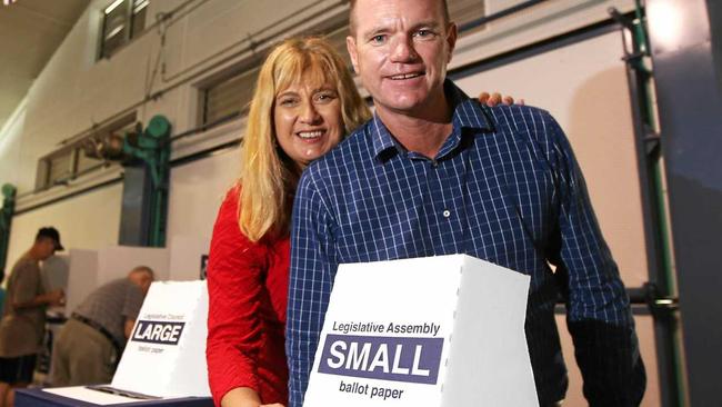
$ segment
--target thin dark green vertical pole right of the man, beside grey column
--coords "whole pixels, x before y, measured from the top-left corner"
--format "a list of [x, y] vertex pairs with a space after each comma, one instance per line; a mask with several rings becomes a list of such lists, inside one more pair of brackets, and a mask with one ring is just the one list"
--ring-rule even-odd
[[[662, 406], [684, 406], [684, 379], [681, 367], [676, 290], [671, 261], [666, 201], [661, 182], [661, 146], [655, 120], [650, 48], [644, 8], [636, 1], [634, 18], [610, 9], [622, 26], [626, 77], [634, 120], [638, 169], [642, 186], [644, 234], [648, 240], [650, 284], [649, 306], [654, 320], [658, 376]], [[630, 50], [631, 48], [631, 50]]]

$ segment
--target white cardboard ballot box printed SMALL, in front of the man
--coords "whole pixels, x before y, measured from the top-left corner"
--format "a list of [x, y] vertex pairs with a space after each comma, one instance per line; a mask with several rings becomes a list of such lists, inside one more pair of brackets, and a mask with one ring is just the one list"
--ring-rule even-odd
[[304, 406], [538, 406], [529, 281], [465, 255], [341, 265]]

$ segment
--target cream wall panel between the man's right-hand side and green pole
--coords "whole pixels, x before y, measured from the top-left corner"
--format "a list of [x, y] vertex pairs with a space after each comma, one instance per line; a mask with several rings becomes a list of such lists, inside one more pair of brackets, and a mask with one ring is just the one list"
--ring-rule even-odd
[[[611, 32], [458, 80], [470, 95], [502, 91], [549, 110], [566, 132], [602, 232], [628, 287], [648, 280], [640, 182], [620, 33]], [[571, 337], [558, 318], [570, 370], [565, 405], [585, 405]], [[646, 364], [644, 406], [659, 405], [650, 317], [636, 318]]]

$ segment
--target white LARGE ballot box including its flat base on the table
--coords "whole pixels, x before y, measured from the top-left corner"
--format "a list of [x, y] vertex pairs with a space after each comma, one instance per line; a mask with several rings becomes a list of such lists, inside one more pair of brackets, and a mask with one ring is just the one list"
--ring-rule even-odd
[[207, 320], [205, 281], [153, 282], [110, 385], [26, 391], [19, 405], [212, 406]]

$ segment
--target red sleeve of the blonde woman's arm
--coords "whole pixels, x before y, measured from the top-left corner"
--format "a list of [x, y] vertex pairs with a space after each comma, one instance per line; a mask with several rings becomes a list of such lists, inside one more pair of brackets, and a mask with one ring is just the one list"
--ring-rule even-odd
[[257, 360], [261, 344], [258, 319], [263, 247], [245, 238], [238, 225], [238, 189], [231, 189], [213, 227], [208, 262], [208, 341], [205, 358], [213, 401], [237, 387], [259, 393]]

